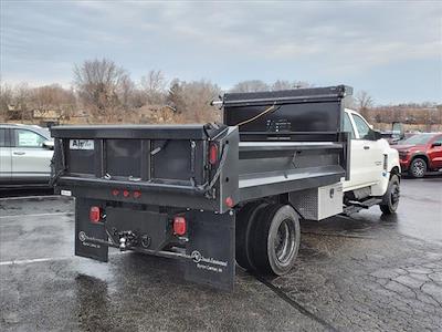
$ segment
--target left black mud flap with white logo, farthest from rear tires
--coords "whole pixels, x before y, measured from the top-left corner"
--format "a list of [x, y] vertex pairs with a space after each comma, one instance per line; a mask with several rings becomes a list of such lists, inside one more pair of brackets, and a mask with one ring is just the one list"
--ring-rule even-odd
[[75, 200], [75, 255], [107, 262], [108, 247], [87, 242], [87, 238], [107, 241], [104, 224], [90, 221], [91, 206], [99, 206], [99, 201], [83, 198]]

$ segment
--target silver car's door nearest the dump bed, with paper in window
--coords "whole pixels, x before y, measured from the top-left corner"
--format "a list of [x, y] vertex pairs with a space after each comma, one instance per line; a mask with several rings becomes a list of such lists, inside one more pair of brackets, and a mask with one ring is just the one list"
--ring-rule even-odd
[[24, 128], [13, 129], [12, 138], [12, 180], [48, 180], [53, 152], [43, 146], [46, 138]]

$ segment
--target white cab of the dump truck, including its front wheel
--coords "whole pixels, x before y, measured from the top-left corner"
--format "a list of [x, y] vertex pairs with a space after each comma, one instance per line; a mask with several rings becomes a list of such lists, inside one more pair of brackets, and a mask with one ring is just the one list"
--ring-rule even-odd
[[345, 110], [344, 131], [351, 137], [349, 180], [343, 180], [346, 198], [379, 203], [383, 212], [393, 212], [399, 203], [398, 152], [359, 113], [349, 108]]

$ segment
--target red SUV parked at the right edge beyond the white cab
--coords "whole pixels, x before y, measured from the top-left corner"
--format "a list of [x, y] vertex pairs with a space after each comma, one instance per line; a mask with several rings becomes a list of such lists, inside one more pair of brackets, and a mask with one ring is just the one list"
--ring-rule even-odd
[[442, 169], [442, 133], [418, 134], [391, 147], [399, 152], [402, 172], [412, 177]]

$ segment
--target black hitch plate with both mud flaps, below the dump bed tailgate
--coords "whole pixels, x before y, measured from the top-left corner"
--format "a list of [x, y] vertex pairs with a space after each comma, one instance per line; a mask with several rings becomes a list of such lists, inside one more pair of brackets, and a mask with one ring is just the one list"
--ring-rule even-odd
[[[232, 290], [235, 272], [235, 214], [176, 210], [152, 206], [112, 206], [103, 199], [76, 197], [75, 255], [108, 260], [108, 247], [179, 259], [185, 279]], [[91, 209], [99, 220], [91, 220]], [[144, 208], [144, 209], [143, 209]], [[173, 232], [173, 217], [186, 220], [183, 235]]]

